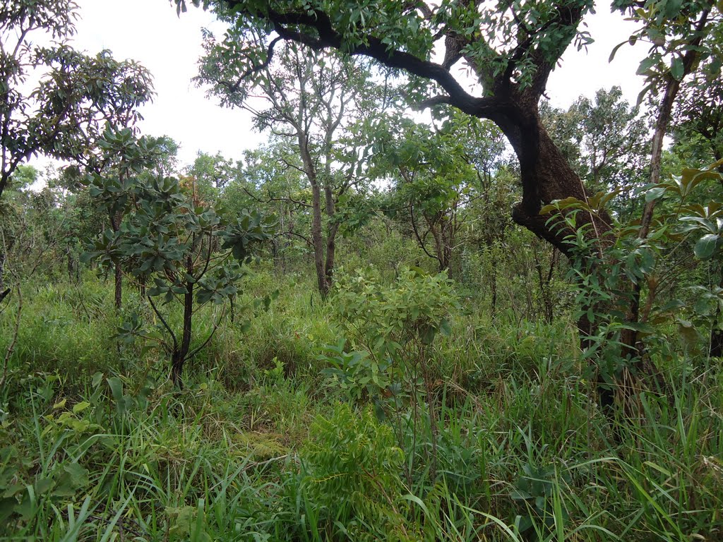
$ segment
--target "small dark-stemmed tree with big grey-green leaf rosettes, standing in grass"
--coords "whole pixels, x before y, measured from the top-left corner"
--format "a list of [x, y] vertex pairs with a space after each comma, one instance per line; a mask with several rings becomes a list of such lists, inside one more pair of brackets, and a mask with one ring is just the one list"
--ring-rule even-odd
[[[160, 320], [158, 329], [168, 338], [163, 340], [163, 335], [142, 330], [137, 317], [135, 322], [121, 326], [119, 337], [127, 342], [142, 337], [160, 343], [171, 357], [174, 382], [180, 382], [184, 362], [208, 343], [218, 327], [217, 322], [205, 343], [192, 350], [194, 311], [208, 303], [224, 304], [236, 296], [236, 283], [243, 275], [241, 264], [251, 262], [254, 249], [270, 238], [271, 221], [257, 212], [244, 211], [234, 221], [222, 223], [213, 207], [197, 201], [193, 186], [189, 196], [175, 178], [137, 176], [149, 165], [148, 155], [155, 151], [145, 139], [136, 142], [129, 131], [106, 132], [103, 150], [118, 153], [118, 175], [95, 175], [91, 195], [108, 210], [112, 228], [90, 246], [82, 259], [112, 263], [116, 272], [122, 266], [143, 288], [153, 280], [147, 295]], [[121, 223], [123, 215], [128, 216]], [[168, 314], [164, 317], [153, 303], [152, 298], [158, 296], [165, 304], [179, 301], [184, 307], [181, 332], [171, 329]], [[265, 303], [267, 308], [269, 302]]]

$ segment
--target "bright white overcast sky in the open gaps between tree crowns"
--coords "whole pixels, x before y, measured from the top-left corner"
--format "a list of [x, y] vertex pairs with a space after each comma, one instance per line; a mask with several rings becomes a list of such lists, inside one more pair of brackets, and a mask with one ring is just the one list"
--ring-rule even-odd
[[[176, 17], [168, 0], [78, 0], [78, 4], [81, 18], [74, 46], [87, 53], [108, 48], [116, 59], [134, 59], [150, 70], [156, 96], [142, 108], [145, 120], [140, 127], [145, 134], [168, 135], [179, 142], [181, 163], [192, 163], [198, 150], [238, 159], [244, 149], [264, 139], [253, 131], [249, 113], [221, 108], [191, 82], [202, 54], [202, 27], [222, 31], [210, 13], [189, 7]], [[598, 14], [587, 20], [596, 40], [587, 53], [570, 48], [562, 66], [552, 73], [547, 95], [553, 105], [567, 107], [579, 95], [592, 98], [599, 88], [612, 85], [623, 87], [624, 97], [635, 102], [642, 88], [635, 72], [644, 51], [623, 46], [608, 64], [612, 48], [633, 30], [620, 14], [610, 14], [608, 5], [601, 4]]]

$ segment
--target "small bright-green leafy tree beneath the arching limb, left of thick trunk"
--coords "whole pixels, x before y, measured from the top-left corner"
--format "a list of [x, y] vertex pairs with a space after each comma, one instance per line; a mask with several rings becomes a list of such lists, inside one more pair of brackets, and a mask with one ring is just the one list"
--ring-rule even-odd
[[390, 115], [370, 137], [373, 174], [395, 181], [388, 214], [408, 221], [424, 253], [437, 260], [440, 271], [449, 270], [463, 210], [489, 197], [487, 185], [504, 151], [500, 132], [461, 114], [435, 129]]

